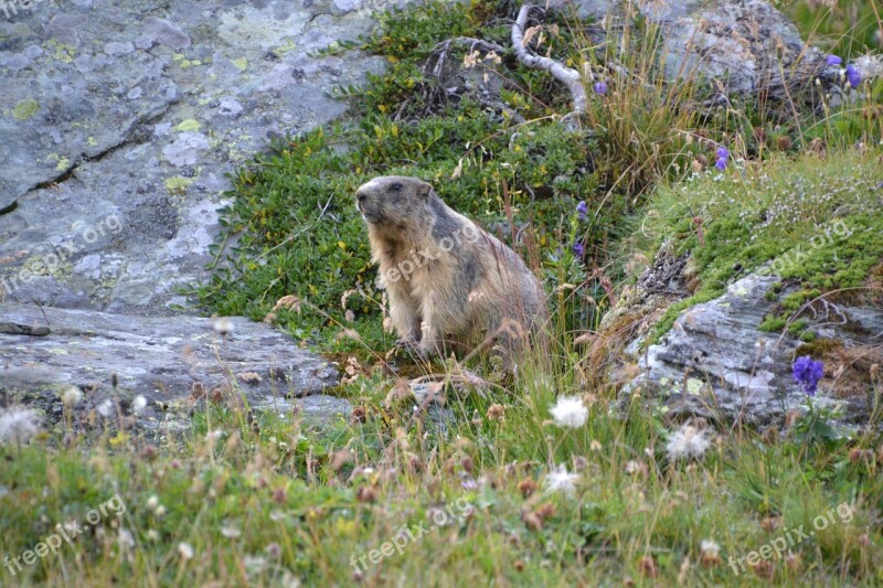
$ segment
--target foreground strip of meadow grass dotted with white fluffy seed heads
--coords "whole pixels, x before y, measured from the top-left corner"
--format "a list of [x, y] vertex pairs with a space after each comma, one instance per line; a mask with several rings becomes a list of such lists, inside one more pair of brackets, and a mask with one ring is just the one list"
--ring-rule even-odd
[[[14, 557], [56, 523], [83, 522], [118, 494], [120, 517], [103, 517], [58, 556], [25, 567], [14, 584], [345, 585], [354, 577], [351, 556], [358, 562], [403, 526], [423, 524], [427, 535], [369, 565], [362, 581], [652, 584], [641, 563], [651, 557], [662, 585], [678, 578], [751, 585], [757, 575], [734, 573], [730, 557], [787, 528], [813, 530], [817, 516], [845, 503], [849, 516], [789, 547], [799, 568], [770, 559], [775, 577], [832, 585], [883, 579], [875, 565], [883, 556], [879, 434], [817, 451], [788, 431], [770, 440], [725, 429], [703, 459], [671, 461], [666, 442], [673, 426], [638, 404], [617, 416], [604, 391], [586, 399], [585, 426], [552, 424], [555, 391], [578, 393], [562, 387], [568, 381], [568, 374], [525, 375], [518, 396], [451, 391], [456, 420], [446, 432], [414, 418], [411, 403], [384, 408], [391, 383], [372, 378], [349, 388], [362, 398], [365, 423], [341, 419], [316, 429], [291, 415], [265, 414], [249, 426], [235, 403], [209, 404], [196, 408], [190, 432], [159, 447], [134, 431], [60, 426], [21, 452], [2, 450], [0, 553]], [[489, 416], [492, 404], [504, 407], [502, 419]], [[209, 424], [217, 437], [206, 437]], [[579, 468], [571, 498], [543, 490], [558, 463]], [[534, 482], [540, 488], [524, 498], [522, 489]], [[434, 527], [433, 512], [446, 507], [449, 522]], [[127, 532], [134, 544], [120, 545]], [[701, 553], [703, 539], [720, 546], [720, 560]], [[181, 543], [192, 558], [182, 556]]]

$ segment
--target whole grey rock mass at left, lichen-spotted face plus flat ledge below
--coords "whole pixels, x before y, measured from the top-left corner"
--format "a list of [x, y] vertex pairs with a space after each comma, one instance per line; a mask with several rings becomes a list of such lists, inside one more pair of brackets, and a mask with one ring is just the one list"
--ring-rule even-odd
[[135, 395], [156, 407], [236, 379], [253, 407], [350, 410], [321, 394], [333, 366], [245, 319], [220, 339], [175, 310], [187, 306], [175, 286], [209, 277], [227, 174], [273, 138], [344, 115], [330, 93], [383, 67], [358, 51], [317, 52], [403, 3], [3, 4], [0, 407], [57, 417], [60, 392], [76, 385], [88, 406], [114, 396], [125, 413]]

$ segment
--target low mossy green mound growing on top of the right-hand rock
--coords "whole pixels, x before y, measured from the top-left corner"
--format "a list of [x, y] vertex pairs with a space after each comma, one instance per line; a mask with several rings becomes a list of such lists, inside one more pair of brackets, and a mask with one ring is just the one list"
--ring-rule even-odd
[[[880, 157], [875, 149], [807, 154], [661, 186], [632, 243], [650, 257], [662, 243], [691, 254], [699, 287], [669, 308], [648, 343], [682, 309], [721, 296], [754, 271], [797, 289], [765, 320], [768, 331], [785, 328], [791, 313], [823, 292], [868, 288], [879, 297], [870, 278], [883, 259]], [[790, 329], [799, 336], [799, 323]]]

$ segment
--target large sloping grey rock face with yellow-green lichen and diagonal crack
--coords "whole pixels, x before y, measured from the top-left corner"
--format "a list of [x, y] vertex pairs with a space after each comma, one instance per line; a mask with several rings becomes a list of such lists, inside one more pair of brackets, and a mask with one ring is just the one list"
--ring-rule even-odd
[[206, 276], [226, 174], [341, 116], [330, 90], [383, 66], [315, 52], [397, 3], [6, 2], [0, 300], [171, 313]]

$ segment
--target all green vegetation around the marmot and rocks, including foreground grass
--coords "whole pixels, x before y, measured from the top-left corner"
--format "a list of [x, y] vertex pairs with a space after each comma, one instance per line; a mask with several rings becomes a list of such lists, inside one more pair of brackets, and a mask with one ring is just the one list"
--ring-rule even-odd
[[[501, 98], [523, 122], [470, 99], [423, 111], [412, 98], [433, 86], [421, 60], [451, 35], [507, 44], [501, 14], [497, 3], [428, 2], [386, 17], [360, 45], [387, 56], [389, 71], [364, 88], [342, 89], [353, 103], [350, 122], [279, 142], [234, 174], [214, 276], [191, 289], [206, 311], [254, 319], [296, 295], [299, 312], [277, 310], [276, 323], [351, 367], [350, 381], [332, 393], [364, 418], [317, 426], [297, 414], [244, 413], [235, 387], [193, 405], [185, 431], [157, 436], [120, 430], [113, 419], [95, 426], [96, 415], [67, 408], [30, 445], [0, 446], [0, 556], [34, 548], [56, 524], [82, 524], [114, 496], [125, 513], [102, 516], [15, 576], [4, 567], [0, 584], [754, 586], [769, 575], [789, 586], [883, 581], [877, 409], [851, 438], [827, 435], [827, 424], [807, 415], [780, 430], [724, 426], [700, 459], [674, 459], [667, 443], [679, 424], [638, 398], [619, 398], [573, 341], [597, 325], [635, 261], [652, 259], [663, 243], [692, 255], [696, 290], [671, 307], [658, 333], [679, 310], [770, 260], [790, 259], [780, 264], [773, 296], [798, 287], [780, 297], [781, 312], [765, 327], [796, 336], [805, 324], [788, 319], [808, 297], [879, 282], [883, 172], [873, 146], [881, 88], [797, 120], [790, 110], [762, 117], [756, 105], [737, 100], [710, 119], [696, 117], [669, 107], [698, 89], [659, 77], [659, 40], [643, 29], [631, 35], [626, 64], [640, 83], [610, 79], [607, 95], [592, 96], [585, 130], [565, 131], [561, 88], [510, 55], [499, 66], [508, 82]], [[599, 71], [616, 51], [588, 47], [566, 21], [556, 24], [544, 49], [576, 67]], [[799, 24], [805, 34], [821, 26], [804, 17]], [[831, 42], [838, 52], [845, 45], [837, 43], [847, 43]], [[722, 145], [732, 158], [717, 171], [709, 161]], [[510, 243], [550, 291], [554, 346], [528, 357], [517, 377], [500, 374], [492, 360], [474, 362], [487, 383], [477, 389], [451, 383], [462, 381], [456, 361], [434, 366], [448, 382], [446, 426], [415, 410], [413, 398], [396, 399], [403, 381], [381, 361], [392, 335], [380, 327], [382, 292], [352, 203], [355, 188], [381, 173], [432, 181], [488, 227], [525, 225], [532, 238]], [[589, 211], [583, 221], [575, 214], [581, 201]], [[848, 235], [795, 261], [797, 249], [841, 221]], [[585, 256], [573, 254], [575, 242], [586, 245]], [[401, 367], [403, 375], [429, 368]], [[879, 375], [871, 381], [869, 396], [879, 403], [883, 384]], [[583, 426], [552, 420], [550, 407], [564, 395], [583, 398]], [[573, 495], [544, 489], [560, 464], [579, 475]], [[469, 513], [458, 506], [465, 503]], [[446, 524], [434, 525], [446, 509]], [[429, 533], [355, 573], [353, 560], [376, 559], [403, 528], [419, 525]], [[801, 525], [815, 534], [794, 541]], [[741, 558], [788, 538], [787, 553], [742, 571]]]

